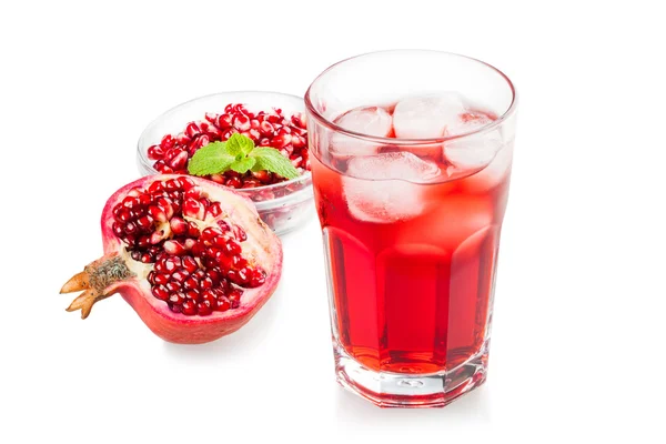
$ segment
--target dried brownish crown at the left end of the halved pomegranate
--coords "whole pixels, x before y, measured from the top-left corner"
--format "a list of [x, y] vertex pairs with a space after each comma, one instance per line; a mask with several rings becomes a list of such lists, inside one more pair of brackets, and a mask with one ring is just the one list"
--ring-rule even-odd
[[81, 310], [81, 319], [85, 319], [97, 302], [114, 293], [107, 291], [109, 286], [134, 276], [135, 274], [128, 268], [123, 259], [117, 254], [93, 261], [62, 285], [61, 294], [83, 290], [83, 293], [74, 299], [65, 310], [68, 312]]

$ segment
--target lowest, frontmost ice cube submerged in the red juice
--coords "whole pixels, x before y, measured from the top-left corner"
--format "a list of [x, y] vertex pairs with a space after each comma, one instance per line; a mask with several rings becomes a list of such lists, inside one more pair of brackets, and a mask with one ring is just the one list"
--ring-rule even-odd
[[361, 221], [391, 223], [415, 218], [426, 205], [423, 193], [440, 168], [408, 152], [350, 159], [343, 193], [352, 215]]

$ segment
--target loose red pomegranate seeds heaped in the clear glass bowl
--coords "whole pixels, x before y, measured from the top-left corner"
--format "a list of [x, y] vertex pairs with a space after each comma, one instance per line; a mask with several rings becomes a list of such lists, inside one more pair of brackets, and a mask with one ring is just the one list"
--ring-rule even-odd
[[[301, 174], [310, 171], [307, 130], [303, 114], [295, 113], [286, 118], [280, 109], [253, 113], [241, 103], [228, 104], [222, 114], [206, 113], [204, 120], [188, 123], [178, 135], [164, 135], [160, 144], [148, 149], [148, 158], [155, 161], [153, 168], [160, 173], [188, 174], [188, 161], [196, 150], [210, 142], [226, 141], [236, 132], [252, 139], [258, 147], [280, 150]], [[235, 189], [285, 181], [268, 171], [249, 171], [244, 174], [226, 171], [206, 179]]]

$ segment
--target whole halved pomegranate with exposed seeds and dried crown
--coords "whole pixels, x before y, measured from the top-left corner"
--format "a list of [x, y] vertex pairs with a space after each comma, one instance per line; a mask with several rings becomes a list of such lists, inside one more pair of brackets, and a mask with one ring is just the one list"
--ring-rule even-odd
[[208, 180], [163, 174], [132, 182], [102, 212], [104, 255], [61, 293], [90, 314], [114, 293], [158, 336], [195, 344], [243, 326], [282, 272], [282, 245], [245, 196]]

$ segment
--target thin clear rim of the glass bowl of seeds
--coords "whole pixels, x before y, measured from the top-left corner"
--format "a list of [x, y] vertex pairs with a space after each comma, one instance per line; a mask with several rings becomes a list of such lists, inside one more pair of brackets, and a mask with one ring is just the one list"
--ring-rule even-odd
[[[250, 94], [250, 95], [261, 95], [261, 94], [274, 94], [274, 95], [283, 95], [285, 98], [291, 98], [291, 99], [296, 99], [299, 101], [301, 101], [303, 103], [303, 111], [302, 113], [305, 114], [305, 100], [300, 97], [300, 95], [295, 95], [295, 94], [289, 94], [285, 92], [278, 92], [278, 91], [261, 91], [261, 90], [243, 90], [243, 91], [221, 91], [221, 92], [214, 92], [212, 94], [205, 94], [205, 95], [200, 95], [198, 98], [194, 99], [190, 99], [186, 100], [182, 103], [176, 104], [175, 107], [172, 107], [170, 109], [168, 109], [167, 111], [162, 112], [161, 114], [159, 114], [157, 118], [154, 118], [153, 120], [150, 121], [150, 123], [148, 123], [145, 125], [145, 128], [143, 128], [143, 131], [141, 131], [141, 134], [139, 135], [139, 140], [137, 141], [137, 153], [139, 155], [139, 162], [141, 165], [145, 167], [147, 171], [150, 172], [150, 174], [160, 174], [160, 172], [158, 170], [155, 170], [151, 164], [150, 164], [150, 160], [148, 159], [148, 150], [142, 150], [141, 149], [141, 142], [143, 141], [143, 138], [145, 135], [145, 133], [148, 132], [148, 130], [153, 127], [154, 124], [157, 124], [159, 121], [161, 121], [164, 117], [167, 117], [167, 114], [170, 114], [172, 112], [178, 111], [180, 108], [185, 107], [190, 103], [196, 102], [199, 100], [203, 100], [203, 99], [210, 99], [213, 98], [215, 95], [226, 95], [226, 94]], [[144, 152], [145, 151], [145, 152]], [[143, 171], [141, 171], [143, 173]], [[280, 189], [281, 186], [289, 186], [291, 184], [295, 184], [299, 183], [300, 181], [306, 182], [307, 180], [312, 180], [312, 172], [311, 171], [305, 171], [303, 174], [299, 175], [297, 178], [294, 179], [290, 179], [287, 181], [284, 182], [278, 182], [278, 183], [273, 183], [270, 185], [262, 185], [262, 186], [254, 186], [254, 188], [248, 188], [248, 189], [235, 189], [235, 191], [243, 193], [243, 194], [253, 194], [253, 190], [254, 191], [264, 191], [264, 190], [276, 190]], [[289, 194], [296, 194], [300, 193], [304, 190], [307, 190], [309, 186], [304, 186], [303, 189], [296, 190], [296, 191], [291, 191]], [[273, 202], [273, 201], [278, 201], [280, 199], [282, 199], [284, 196], [280, 196], [276, 199], [269, 199], [266, 201], [261, 201], [261, 202]], [[259, 203], [259, 202], [255, 202]]]

